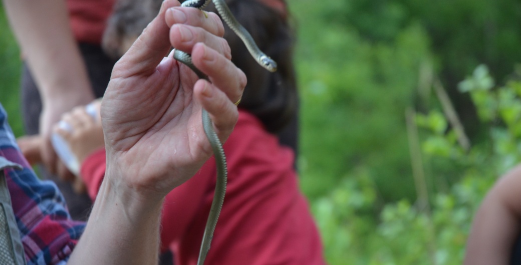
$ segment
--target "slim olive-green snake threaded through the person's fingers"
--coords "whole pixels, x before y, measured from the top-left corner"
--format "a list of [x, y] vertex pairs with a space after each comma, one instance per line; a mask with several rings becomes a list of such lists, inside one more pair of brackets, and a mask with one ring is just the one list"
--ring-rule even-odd
[[[246, 45], [246, 48], [253, 56], [253, 58], [264, 68], [266, 68], [270, 72], [275, 72], [277, 70], [277, 63], [265, 55], [261, 49], [257, 47], [253, 37], [250, 33], [235, 19], [232, 12], [228, 8], [225, 0], [212, 0], [221, 16], [222, 20], [224, 20], [228, 27], [230, 27], [235, 34], [237, 34], [243, 43]], [[199, 9], [203, 9], [209, 4], [210, 0], [187, 0], [181, 4], [182, 7], [195, 7]], [[208, 80], [206, 74], [201, 72], [192, 64], [192, 59], [189, 54], [179, 51], [178, 49], [174, 50], [173, 57], [182, 62], [184, 65], [187, 65], [192, 69], [197, 77], [200, 79]], [[209, 81], [209, 80], [208, 80]], [[214, 125], [212, 120], [210, 119], [208, 112], [203, 109], [202, 110], [202, 120], [203, 120], [203, 129], [212, 146], [212, 150], [215, 156], [216, 167], [217, 167], [217, 181], [215, 184], [215, 193], [214, 199], [212, 201], [212, 206], [210, 207], [210, 212], [208, 214], [208, 220], [206, 221], [206, 226], [203, 234], [203, 240], [201, 243], [201, 250], [199, 252], [199, 258], [197, 259], [197, 265], [203, 265], [204, 260], [206, 259], [206, 255], [210, 249], [210, 244], [212, 243], [212, 238], [214, 235], [215, 227], [217, 225], [217, 219], [219, 218], [219, 214], [221, 212], [222, 204], [224, 203], [224, 198], [226, 194], [226, 182], [227, 182], [227, 164], [226, 164], [226, 156], [224, 153], [224, 149], [222, 148], [222, 144], [217, 136], [217, 133], [214, 130]]]

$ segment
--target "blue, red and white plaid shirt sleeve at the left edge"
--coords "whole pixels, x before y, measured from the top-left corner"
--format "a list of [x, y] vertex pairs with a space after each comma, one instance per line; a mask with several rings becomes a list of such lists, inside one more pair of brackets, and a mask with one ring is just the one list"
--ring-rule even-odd
[[7, 186], [28, 264], [66, 264], [85, 227], [69, 217], [53, 182], [39, 180], [20, 153], [0, 104], [0, 156], [22, 166], [5, 169]]

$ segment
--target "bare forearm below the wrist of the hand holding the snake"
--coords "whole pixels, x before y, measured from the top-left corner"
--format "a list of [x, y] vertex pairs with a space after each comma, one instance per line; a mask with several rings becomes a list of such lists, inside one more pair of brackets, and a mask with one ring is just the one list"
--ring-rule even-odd
[[68, 264], [158, 263], [163, 200], [129, 196], [106, 178]]

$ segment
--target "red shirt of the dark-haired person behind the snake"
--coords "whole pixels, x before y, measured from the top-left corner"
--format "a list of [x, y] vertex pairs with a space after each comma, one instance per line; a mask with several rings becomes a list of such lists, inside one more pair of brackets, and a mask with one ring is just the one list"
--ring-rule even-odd
[[[261, 122], [244, 111], [224, 149], [228, 186], [206, 263], [325, 264], [320, 236], [299, 191], [292, 151], [281, 147]], [[91, 197], [104, 169], [103, 150], [82, 165]], [[192, 179], [166, 196], [161, 239], [163, 247], [174, 253], [176, 264], [197, 262], [215, 180], [212, 157]]]

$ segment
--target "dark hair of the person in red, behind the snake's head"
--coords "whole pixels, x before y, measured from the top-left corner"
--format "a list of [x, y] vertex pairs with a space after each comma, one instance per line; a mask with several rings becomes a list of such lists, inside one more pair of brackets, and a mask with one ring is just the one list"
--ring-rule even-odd
[[232, 47], [232, 61], [244, 71], [248, 79], [239, 107], [253, 113], [262, 121], [266, 130], [278, 133], [295, 119], [298, 105], [293, 66], [293, 31], [288, 21], [277, 11], [258, 0], [226, 2], [259, 48], [278, 65], [274, 73], [259, 66], [244, 43], [225, 23], [225, 39]]

